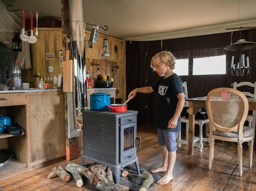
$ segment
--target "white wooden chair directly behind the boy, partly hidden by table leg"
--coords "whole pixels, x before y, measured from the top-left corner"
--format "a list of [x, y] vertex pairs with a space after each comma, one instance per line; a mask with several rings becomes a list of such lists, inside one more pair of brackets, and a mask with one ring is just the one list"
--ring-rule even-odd
[[[183, 89], [184, 89], [185, 99], [189, 98], [188, 85], [186, 82], [183, 82]], [[189, 107], [189, 102], [186, 101], [184, 106]], [[181, 131], [179, 131], [178, 137], [177, 137], [177, 146], [178, 147], [181, 147], [181, 144], [188, 145], [188, 137], [189, 137], [189, 118], [183, 116], [183, 117], [181, 117], [181, 122], [186, 123], [186, 139], [185, 140], [181, 139]], [[199, 137], [194, 138], [194, 143], [199, 142], [197, 146], [200, 149], [200, 152], [203, 152], [203, 148], [204, 148], [203, 141], [209, 142], [208, 138], [203, 137], [203, 126], [204, 126], [204, 124], [206, 124], [206, 125], [209, 124], [209, 119], [195, 119], [195, 124], [198, 124], [198, 126], [199, 126]]]

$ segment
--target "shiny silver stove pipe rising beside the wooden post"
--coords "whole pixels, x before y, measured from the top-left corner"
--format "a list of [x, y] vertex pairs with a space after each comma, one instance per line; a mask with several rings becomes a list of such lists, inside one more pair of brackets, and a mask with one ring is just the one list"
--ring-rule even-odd
[[82, 0], [69, 1], [71, 57], [73, 58], [73, 116], [74, 129], [81, 130], [82, 109], [87, 108], [84, 5]]

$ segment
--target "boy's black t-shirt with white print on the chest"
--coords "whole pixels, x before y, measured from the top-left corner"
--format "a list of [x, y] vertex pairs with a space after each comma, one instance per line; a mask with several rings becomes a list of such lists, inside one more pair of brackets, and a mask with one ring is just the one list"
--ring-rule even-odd
[[168, 122], [174, 115], [178, 98], [178, 93], [184, 93], [182, 79], [176, 74], [164, 78], [160, 77], [155, 84], [151, 86], [158, 94], [155, 124], [158, 128], [178, 132], [181, 130], [181, 116], [179, 116], [177, 127], [167, 128]]

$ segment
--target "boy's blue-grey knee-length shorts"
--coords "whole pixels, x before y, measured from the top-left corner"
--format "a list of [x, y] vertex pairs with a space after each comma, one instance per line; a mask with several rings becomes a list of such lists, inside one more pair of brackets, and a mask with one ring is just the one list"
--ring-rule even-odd
[[157, 128], [158, 135], [158, 144], [161, 146], [166, 146], [169, 152], [173, 152], [177, 150], [177, 142], [176, 139], [178, 137], [178, 132], [172, 132]]

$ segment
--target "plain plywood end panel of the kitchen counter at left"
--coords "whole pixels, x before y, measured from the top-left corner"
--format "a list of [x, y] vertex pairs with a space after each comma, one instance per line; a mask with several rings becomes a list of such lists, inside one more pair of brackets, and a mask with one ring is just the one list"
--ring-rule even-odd
[[31, 92], [26, 98], [27, 165], [65, 156], [64, 94]]

